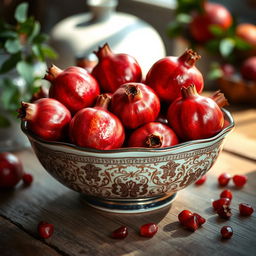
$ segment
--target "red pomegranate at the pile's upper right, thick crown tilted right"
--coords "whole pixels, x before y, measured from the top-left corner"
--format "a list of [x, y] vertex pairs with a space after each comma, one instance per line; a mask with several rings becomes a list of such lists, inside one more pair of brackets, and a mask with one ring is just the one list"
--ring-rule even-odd
[[181, 96], [181, 87], [191, 84], [199, 93], [204, 87], [201, 72], [195, 67], [200, 56], [186, 50], [180, 57], [169, 56], [158, 60], [150, 68], [145, 84], [152, 87], [160, 100], [172, 102]]

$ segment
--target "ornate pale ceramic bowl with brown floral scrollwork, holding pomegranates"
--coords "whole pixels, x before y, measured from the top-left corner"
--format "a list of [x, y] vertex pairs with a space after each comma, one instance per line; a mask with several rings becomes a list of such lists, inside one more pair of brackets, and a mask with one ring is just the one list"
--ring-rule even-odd
[[177, 192], [206, 174], [233, 129], [231, 114], [222, 109], [225, 126], [217, 135], [168, 148], [96, 150], [40, 139], [21, 128], [42, 166], [90, 205], [118, 213], [166, 207]]

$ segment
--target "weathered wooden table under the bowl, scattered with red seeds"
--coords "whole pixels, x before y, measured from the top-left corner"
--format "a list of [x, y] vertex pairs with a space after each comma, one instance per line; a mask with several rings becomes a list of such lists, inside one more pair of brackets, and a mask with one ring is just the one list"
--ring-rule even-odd
[[[86, 205], [78, 193], [55, 181], [28, 149], [16, 154], [25, 170], [34, 176], [30, 187], [19, 184], [13, 191], [0, 192], [1, 256], [161, 256], [161, 255], [256, 255], [256, 213], [240, 217], [238, 204], [249, 203], [256, 210], [256, 109], [231, 109], [236, 128], [228, 135], [224, 150], [201, 186], [190, 185], [180, 191], [171, 207], [144, 214], [105, 213]], [[211, 200], [223, 188], [217, 185], [222, 172], [246, 174], [248, 183], [233, 191], [230, 220], [220, 219], [212, 210]], [[177, 215], [189, 209], [207, 221], [195, 232], [184, 229]], [[53, 223], [54, 234], [42, 240], [37, 224]], [[138, 235], [140, 225], [155, 222], [159, 226], [153, 238]], [[121, 225], [129, 228], [124, 240], [114, 240], [111, 231]], [[234, 235], [220, 239], [220, 229], [231, 225]]]

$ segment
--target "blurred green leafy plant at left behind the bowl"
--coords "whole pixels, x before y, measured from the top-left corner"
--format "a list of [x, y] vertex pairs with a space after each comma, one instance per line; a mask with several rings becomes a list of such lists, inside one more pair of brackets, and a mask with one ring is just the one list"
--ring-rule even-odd
[[17, 109], [45, 82], [46, 59], [57, 57], [46, 44], [47, 35], [40, 32], [40, 23], [27, 13], [24, 2], [15, 10], [15, 25], [0, 21], [0, 151], [27, 145]]

